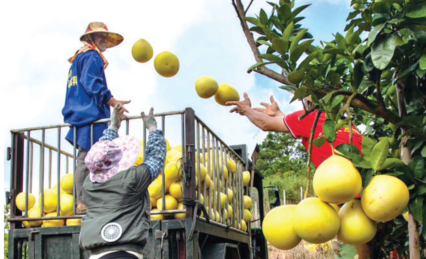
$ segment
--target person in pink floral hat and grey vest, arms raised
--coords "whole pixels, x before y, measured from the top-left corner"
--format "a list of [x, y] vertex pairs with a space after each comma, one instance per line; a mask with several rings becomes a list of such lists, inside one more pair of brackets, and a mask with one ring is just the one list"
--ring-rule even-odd
[[150, 224], [148, 185], [164, 165], [166, 142], [150, 109], [141, 117], [149, 130], [144, 162], [134, 166], [140, 142], [118, 137], [121, 106], [116, 105], [111, 124], [85, 158], [89, 177], [83, 183], [87, 214], [81, 219], [80, 246], [89, 259], [142, 259]]

